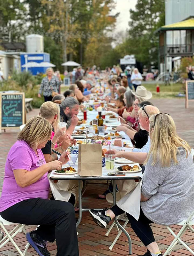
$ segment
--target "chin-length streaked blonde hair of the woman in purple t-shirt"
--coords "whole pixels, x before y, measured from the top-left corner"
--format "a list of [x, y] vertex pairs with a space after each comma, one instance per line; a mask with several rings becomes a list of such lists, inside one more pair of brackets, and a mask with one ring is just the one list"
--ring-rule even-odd
[[25, 140], [27, 144], [36, 149], [37, 145], [48, 140], [52, 132], [52, 126], [45, 118], [34, 116], [27, 121], [18, 135], [18, 140]]

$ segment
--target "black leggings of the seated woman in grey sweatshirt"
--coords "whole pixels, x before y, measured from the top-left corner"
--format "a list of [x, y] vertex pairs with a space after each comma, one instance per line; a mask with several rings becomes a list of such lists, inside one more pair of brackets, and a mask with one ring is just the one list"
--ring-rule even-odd
[[[115, 216], [118, 216], [124, 213], [124, 211], [121, 208], [119, 208], [117, 205], [114, 205], [112, 208], [110, 208], [110, 210], [114, 212]], [[138, 220], [136, 220], [129, 213], [127, 213], [127, 218], [131, 224], [131, 228], [134, 230], [135, 234], [139, 237], [139, 239], [142, 241], [142, 243], [145, 246], [155, 242], [152, 228], [149, 225], [150, 223], [153, 223], [153, 221], [149, 220], [144, 215], [141, 207], [140, 207], [140, 214], [139, 214]]]

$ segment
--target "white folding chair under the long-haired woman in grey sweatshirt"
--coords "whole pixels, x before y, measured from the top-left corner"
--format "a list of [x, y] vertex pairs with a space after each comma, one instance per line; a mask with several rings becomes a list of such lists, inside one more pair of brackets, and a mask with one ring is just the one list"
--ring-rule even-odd
[[170, 244], [170, 246], [168, 247], [168, 249], [166, 250], [166, 252], [164, 253], [163, 256], [167, 256], [170, 255], [170, 253], [172, 252], [173, 248], [175, 247], [175, 245], [179, 242], [181, 244], [183, 244], [183, 246], [190, 252], [192, 253], [192, 255], [194, 255], [194, 251], [192, 251], [189, 246], [187, 244], [185, 244], [182, 240], [181, 237], [183, 236], [184, 232], [187, 229], [190, 229], [192, 232], [194, 232], [194, 229], [191, 227], [194, 225], [194, 211], [191, 213], [191, 215], [189, 216], [189, 218], [187, 220], [183, 220], [179, 223], [177, 223], [176, 225], [180, 225], [182, 226], [181, 230], [178, 232], [178, 234], [176, 235], [172, 229], [169, 226], [166, 226], [168, 228], [168, 230], [170, 231], [170, 233], [175, 237], [175, 239], [172, 241], [172, 243]]

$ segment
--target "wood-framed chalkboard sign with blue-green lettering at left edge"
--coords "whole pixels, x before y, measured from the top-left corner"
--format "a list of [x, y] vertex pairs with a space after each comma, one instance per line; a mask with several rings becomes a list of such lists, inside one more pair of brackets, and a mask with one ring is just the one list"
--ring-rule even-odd
[[0, 129], [19, 127], [25, 120], [25, 93], [0, 93], [0, 108]]

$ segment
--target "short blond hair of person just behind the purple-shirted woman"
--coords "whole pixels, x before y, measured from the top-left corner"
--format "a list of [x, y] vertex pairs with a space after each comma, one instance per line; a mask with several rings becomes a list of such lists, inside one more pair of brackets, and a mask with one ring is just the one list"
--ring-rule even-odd
[[46, 101], [41, 105], [40, 116], [49, 119], [58, 113], [57, 105], [52, 101]]

